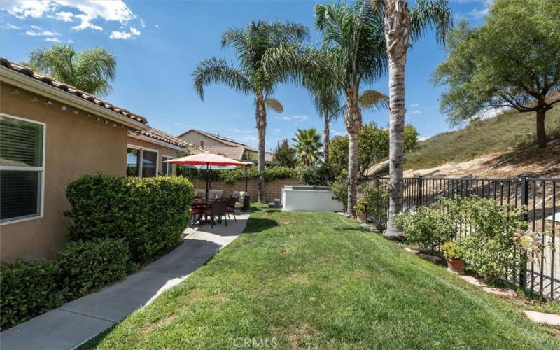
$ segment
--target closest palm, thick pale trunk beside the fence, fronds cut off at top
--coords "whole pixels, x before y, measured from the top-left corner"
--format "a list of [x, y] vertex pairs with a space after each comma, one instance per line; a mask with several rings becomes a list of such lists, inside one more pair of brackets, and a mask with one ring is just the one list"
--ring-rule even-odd
[[395, 237], [402, 232], [394, 227], [395, 215], [402, 210], [402, 165], [405, 130], [405, 64], [410, 36], [419, 39], [426, 29], [435, 29], [439, 43], [453, 27], [453, 16], [447, 0], [418, 0], [408, 8], [406, 0], [371, 0], [373, 10], [384, 16], [385, 38], [389, 59], [389, 218], [384, 235]]

